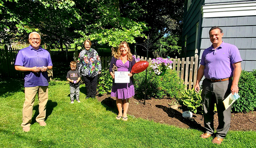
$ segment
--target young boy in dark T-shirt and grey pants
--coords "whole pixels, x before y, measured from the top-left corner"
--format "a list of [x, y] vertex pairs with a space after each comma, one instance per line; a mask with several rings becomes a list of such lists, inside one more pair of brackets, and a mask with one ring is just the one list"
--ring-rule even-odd
[[67, 80], [69, 81], [70, 86], [70, 100], [71, 104], [74, 103], [74, 95], [76, 95], [76, 100], [78, 103], [80, 103], [79, 100], [79, 81], [81, 79], [81, 75], [79, 74], [78, 70], [76, 70], [76, 62], [72, 61], [70, 62], [70, 68], [71, 70], [68, 71], [67, 74]]

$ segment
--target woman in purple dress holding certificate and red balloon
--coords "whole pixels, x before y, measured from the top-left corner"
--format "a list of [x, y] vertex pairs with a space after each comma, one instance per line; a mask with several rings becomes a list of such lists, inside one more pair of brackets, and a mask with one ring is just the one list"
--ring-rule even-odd
[[[116, 54], [111, 59], [109, 66], [109, 72], [113, 79], [115, 79], [115, 74], [112, 72], [113, 64], [118, 68], [117, 71], [129, 71], [131, 72], [132, 66], [135, 64], [135, 59], [132, 57], [131, 50], [126, 41], [119, 44], [119, 48]], [[111, 97], [116, 97], [116, 106], [118, 109], [117, 120], [121, 118], [123, 121], [127, 121], [127, 111], [129, 107], [129, 98], [134, 96], [134, 86], [133, 86], [133, 74], [129, 73], [130, 83], [115, 83], [113, 80], [113, 86], [111, 90]], [[124, 113], [122, 110], [124, 109]]]

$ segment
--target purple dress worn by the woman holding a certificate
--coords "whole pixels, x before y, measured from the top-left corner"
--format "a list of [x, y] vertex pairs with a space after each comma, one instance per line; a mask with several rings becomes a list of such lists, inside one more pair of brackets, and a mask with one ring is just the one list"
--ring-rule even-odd
[[[128, 71], [129, 61], [123, 63], [122, 60], [116, 61], [116, 67], [118, 71]], [[126, 99], [134, 96], [134, 86], [128, 86], [128, 83], [113, 83], [111, 90], [111, 97], [117, 97], [118, 99]]]

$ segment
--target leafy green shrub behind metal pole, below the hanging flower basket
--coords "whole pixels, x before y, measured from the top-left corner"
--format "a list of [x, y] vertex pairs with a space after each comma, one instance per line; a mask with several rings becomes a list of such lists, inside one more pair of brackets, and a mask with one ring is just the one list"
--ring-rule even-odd
[[[145, 75], [146, 71], [134, 74], [135, 95], [143, 98], [145, 95]], [[152, 68], [147, 71], [147, 96], [155, 98], [179, 97], [184, 85], [180, 82], [177, 72], [167, 69], [163, 76], [157, 76]]]

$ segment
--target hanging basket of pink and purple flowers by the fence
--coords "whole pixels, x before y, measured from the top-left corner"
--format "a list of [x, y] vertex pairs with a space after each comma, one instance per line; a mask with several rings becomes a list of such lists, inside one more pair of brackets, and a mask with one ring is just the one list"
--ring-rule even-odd
[[150, 67], [154, 70], [156, 75], [162, 76], [166, 69], [172, 69], [172, 63], [170, 58], [153, 58]]

